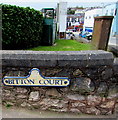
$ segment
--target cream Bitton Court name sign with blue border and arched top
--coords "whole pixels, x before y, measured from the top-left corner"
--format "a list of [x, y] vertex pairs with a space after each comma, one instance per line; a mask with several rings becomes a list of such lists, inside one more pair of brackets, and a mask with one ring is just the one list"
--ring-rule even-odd
[[33, 68], [26, 77], [4, 77], [3, 84], [6, 86], [66, 87], [70, 84], [70, 80], [68, 77], [44, 77], [39, 69]]

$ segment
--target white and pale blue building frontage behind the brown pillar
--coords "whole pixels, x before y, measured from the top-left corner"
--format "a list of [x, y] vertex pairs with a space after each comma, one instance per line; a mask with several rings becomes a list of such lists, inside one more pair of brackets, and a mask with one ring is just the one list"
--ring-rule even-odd
[[118, 2], [108, 4], [102, 8], [87, 10], [84, 17], [83, 31], [85, 31], [87, 28], [93, 29], [94, 17], [97, 16], [114, 16], [111, 26], [111, 35], [118, 35]]

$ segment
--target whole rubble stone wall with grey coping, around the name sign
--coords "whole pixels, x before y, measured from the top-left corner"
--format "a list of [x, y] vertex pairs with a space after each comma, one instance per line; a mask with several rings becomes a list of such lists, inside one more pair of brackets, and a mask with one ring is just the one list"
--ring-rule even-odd
[[2, 51], [2, 75], [27, 76], [38, 68], [46, 77], [69, 77], [68, 87], [2, 85], [5, 106], [108, 115], [118, 107], [118, 59], [105, 51]]

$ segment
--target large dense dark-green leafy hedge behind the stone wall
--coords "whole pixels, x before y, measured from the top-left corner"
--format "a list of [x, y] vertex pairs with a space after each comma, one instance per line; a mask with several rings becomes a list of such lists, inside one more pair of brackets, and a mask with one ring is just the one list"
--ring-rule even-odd
[[29, 7], [2, 4], [2, 49], [27, 49], [40, 45], [43, 16]]

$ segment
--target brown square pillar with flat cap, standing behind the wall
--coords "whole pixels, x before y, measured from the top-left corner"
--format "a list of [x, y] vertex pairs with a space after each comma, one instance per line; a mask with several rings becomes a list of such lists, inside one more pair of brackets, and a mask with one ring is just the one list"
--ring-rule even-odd
[[92, 37], [94, 49], [107, 50], [113, 16], [95, 17]]

